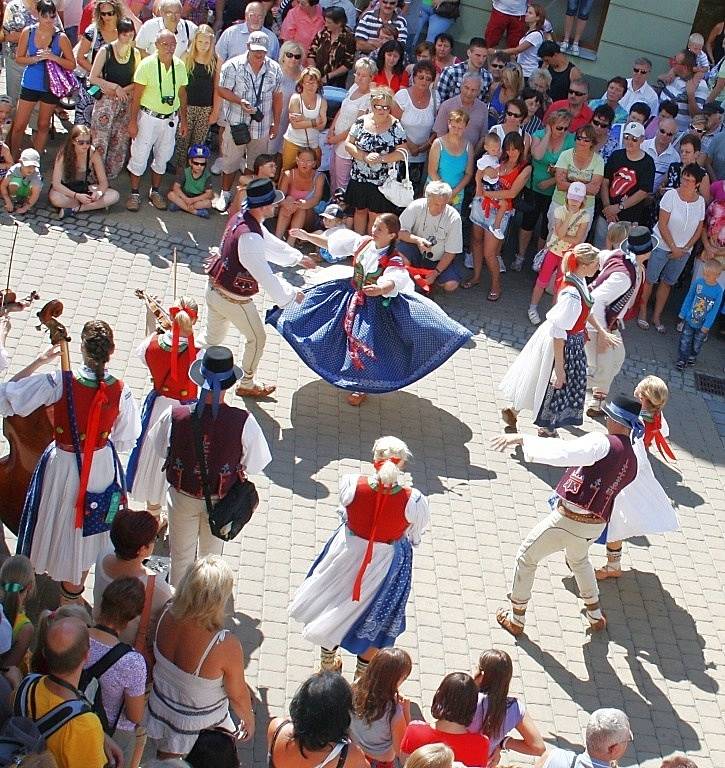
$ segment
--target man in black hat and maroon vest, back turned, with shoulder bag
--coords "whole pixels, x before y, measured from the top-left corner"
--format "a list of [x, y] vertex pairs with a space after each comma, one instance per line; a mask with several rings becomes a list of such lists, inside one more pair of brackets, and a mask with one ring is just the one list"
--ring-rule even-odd
[[[201, 388], [194, 404], [169, 408], [149, 432], [150, 445], [166, 457], [169, 482], [171, 584], [179, 585], [198, 557], [221, 555], [223, 542], [209, 528], [196, 446], [204, 446], [204, 474], [212, 499], [224, 498], [237, 478], [261, 472], [272, 459], [254, 416], [224, 402], [224, 394], [244, 376], [226, 347], [209, 347], [192, 363], [189, 377]], [[200, 433], [200, 434], [199, 434]]]

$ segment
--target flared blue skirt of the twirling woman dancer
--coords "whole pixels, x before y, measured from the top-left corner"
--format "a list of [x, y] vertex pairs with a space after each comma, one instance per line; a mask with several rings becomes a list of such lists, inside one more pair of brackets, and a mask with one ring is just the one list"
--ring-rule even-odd
[[308, 288], [302, 304], [267, 313], [302, 361], [351, 392], [393, 392], [442, 365], [472, 336], [417, 294], [366, 297], [351, 282]]

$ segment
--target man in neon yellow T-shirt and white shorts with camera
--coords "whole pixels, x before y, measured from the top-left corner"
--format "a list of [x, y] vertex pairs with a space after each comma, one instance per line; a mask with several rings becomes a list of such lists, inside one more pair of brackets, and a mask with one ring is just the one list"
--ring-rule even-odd
[[129, 211], [141, 207], [139, 186], [146, 172], [151, 152], [151, 190], [149, 200], [154, 208], [166, 209], [161, 193], [161, 180], [166, 164], [176, 148], [176, 128], [186, 135], [186, 84], [188, 76], [181, 59], [174, 55], [176, 37], [171, 30], [162, 29], [156, 38], [156, 52], [136, 67], [131, 97], [128, 135], [131, 137], [131, 157], [128, 173], [131, 194], [126, 201]]

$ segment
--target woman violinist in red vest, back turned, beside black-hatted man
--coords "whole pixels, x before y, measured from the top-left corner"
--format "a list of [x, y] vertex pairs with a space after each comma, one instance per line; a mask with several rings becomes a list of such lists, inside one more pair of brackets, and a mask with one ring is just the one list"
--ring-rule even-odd
[[169, 407], [196, 400], [197, 387], [189, 378], [189, 368], [197, 356], [194, 345], [194, 324], [199, 305], [182, 296], [169, 309], [171, 328], [163, 334], [152, 333], [138, 348], [146, 363], [153, 387], [146, 395], [141, 412], [141, 435], [128, 460], [126, 480], [128, 491], [160, 521], [161, 504], [166, 496], [164, 463], [153, 447], [146, 444], [146, 435]]

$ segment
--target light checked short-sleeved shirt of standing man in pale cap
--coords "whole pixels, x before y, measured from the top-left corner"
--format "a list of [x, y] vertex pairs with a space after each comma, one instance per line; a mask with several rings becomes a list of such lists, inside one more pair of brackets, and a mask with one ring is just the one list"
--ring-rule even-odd
[[[264, 80], [262, 80], [264, 77]], [[258, 106], [264, 115], [261, 123], [249, 119], [240, 104], [224, 101], [223, 119], [229, 125], [248, 123], [253, 139], [261, 139], [269, 134], [272, 127], [272, 97], [280, 90], [282, 84], [282, 68], [269, 56], [265, 57], [262, 68], [255, 75], [247, 62], [247, 54], [235, 56], [222, 64], [219, 85], [234, 91], [240, 99], [248, 101], [252, 106]], [[257, 91], [260, 90], [259, 104]]]

